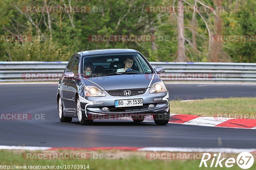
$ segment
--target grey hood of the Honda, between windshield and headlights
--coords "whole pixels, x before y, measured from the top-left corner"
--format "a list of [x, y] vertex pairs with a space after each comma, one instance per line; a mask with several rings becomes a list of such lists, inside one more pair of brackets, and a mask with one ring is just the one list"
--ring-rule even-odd
[[122, 74], [83, 78], [83, 80], [86, 85], [97, 86], [101, 90], [147, 88], [160, 81], [156, 74]]

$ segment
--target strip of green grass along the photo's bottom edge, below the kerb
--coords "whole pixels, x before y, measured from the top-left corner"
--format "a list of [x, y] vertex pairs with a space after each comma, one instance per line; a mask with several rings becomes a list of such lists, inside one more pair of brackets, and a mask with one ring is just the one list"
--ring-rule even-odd
[[[30, 151], [31, 152], [31, 151]], [[193, 169], [229, 169], [226, 167], [217, 168], [199, 168], [200, 160], [148, 160], [145, 156], [131, 156], [127, 159], [94, 159], [94, 160], [29, 160], [23, 159], [22, 153], [0, 150], [0, 165], [20, 165], [20, 166], [58, 166], [58, 165], [89, 165], [89, 170], [96, 169], [181, 169], [181, 170], [193, 170]], [[135, 153], [135, 152], [134, 152]], [[208, 162], [207, 162], [208, 163]], [[210, 166], [209, 162], [207, 165]], [[225, 166], [225, 164], [223, 164]], [[74, 169], [74, 168], [73, 168]], [[236, 164], [233, 169], [241, 169]], [[251, 169], [256, 169], [256, 164]]]

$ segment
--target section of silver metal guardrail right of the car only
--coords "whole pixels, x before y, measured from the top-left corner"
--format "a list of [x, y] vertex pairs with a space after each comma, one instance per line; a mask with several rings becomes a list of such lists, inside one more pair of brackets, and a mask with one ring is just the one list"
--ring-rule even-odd
[[256, 63], [151, 62], [165, 81], [256, 82]]

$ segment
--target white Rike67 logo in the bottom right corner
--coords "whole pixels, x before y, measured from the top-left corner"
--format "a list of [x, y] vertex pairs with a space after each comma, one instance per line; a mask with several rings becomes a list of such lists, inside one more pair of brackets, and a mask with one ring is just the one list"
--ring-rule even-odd
[[[204, 153], [199, 167], [202, 167], [203, 165], [204, 165], [203, 167], [208, 167], [206, 162], [210, 159], [211, 159], [211, 154]], [[226, 167], [230, 168], [234, 166], [234, 164], [236, 163], [242, 169], [249, 169], [250, 167], [252, 167], [253, 162], [254, 162], [254, 158], [252, 154], [249, 152], [240, 153], [236, 159], [235, 158], [221, 159], [221, 153], [219, 153], [218, 156], [217, 156], [217, 153], [214, 153], [211, 165], [209, 167], [218, 167], [218, 166], [223, 167], [223, 165], [225, 165]]]

